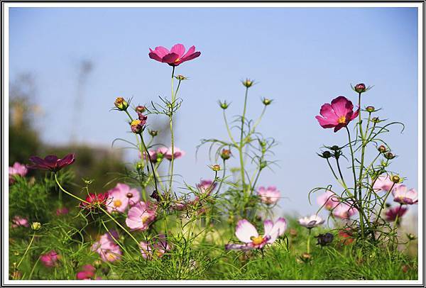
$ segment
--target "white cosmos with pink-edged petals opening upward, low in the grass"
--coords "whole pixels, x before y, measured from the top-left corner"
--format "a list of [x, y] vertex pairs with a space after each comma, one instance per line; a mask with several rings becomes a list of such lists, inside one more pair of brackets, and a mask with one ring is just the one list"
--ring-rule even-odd
[[235, 236], [244, 244], [226, 244], [226, 250], [251, 250], [261, 249], [266, 244], [272, 244], [277, 240], [278, 236], [282, 236], [287, 228], [285, 218], [278, 218], [275, 223], [271, 220], [263, 222], [264, 235], [258, 234], [256, 227], [246, 219], [238, 221], [236, 224]]

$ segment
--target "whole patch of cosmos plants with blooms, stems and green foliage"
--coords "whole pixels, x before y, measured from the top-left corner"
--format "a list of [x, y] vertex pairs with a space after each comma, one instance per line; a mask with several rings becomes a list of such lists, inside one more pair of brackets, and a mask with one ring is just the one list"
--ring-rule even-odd
[[[185, 157], [175, 146], [175, 117], [184, 105], [180, 87], [189, 84], [179, 68], [197, 65], [200, 56], [195, 46], [150, 48], [148, 57], [171, 75], [170, 96], [111, 99], [128, 125], [110, 132], [132, 133], [134, 142], [126, 144], [138, 160], [104, 191], [92, 189], [93, 179], [73, 178], [79, 155], [72, 150], [9, 167], [9, 279], [417, 279], [417, 252], [410, 253], [417, 236], [405, 233], [401, 221], [417, 209], [418, 194], [404, 184], [403, 171], [393, 171], [397, 155], [383, 140], [404, 125], [376, 116], [364, 101], [373, 87], [351, 85], [351, 94], [330, 95], [311, 116], [324, 133], [342, 133], [346, 141], [317, 151], [329, 179], [312, 187], [306, 203], [318, 213], [295, 218], [278, 205], [280, 187], [258, 184], [280, 148], [258, 131], [273, 99], [262, 99], [258, 118], [246, 114], [253, 79], [236, 83], [241, 101], [232, 105], [241, 106], [241, 115], [227, 115], [230, 104], [219, 101], [227, 138], [194, 139], [209, 148], [211, 178], [190, 184], [175, 177], [175, 162]], [[168, 143], [154, 145], [161, 131], [149, 128], [153, 115], [167, 119]], [[231, 157], [239, 162], [237, 177]]]

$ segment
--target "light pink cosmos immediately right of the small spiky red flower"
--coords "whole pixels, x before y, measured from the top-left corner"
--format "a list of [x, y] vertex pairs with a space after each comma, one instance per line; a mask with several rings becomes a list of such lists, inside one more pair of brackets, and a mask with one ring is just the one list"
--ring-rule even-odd
[[129, 185], [122, 183], [117, 183], [116, 187], [108, 191], [108, 194], [107, 210], [109, 213], [112, 211], [124, 213], [129, 205], [133, 206], [141, 199], [138, 190], [131, 189]]

